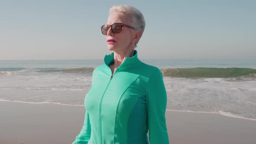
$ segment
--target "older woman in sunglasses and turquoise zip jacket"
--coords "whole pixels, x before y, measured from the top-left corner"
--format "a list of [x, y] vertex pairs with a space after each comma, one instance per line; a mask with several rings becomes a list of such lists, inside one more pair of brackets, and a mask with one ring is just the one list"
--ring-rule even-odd
[[169, 144], [162, 73], [141, 62], [134, 50], [144, 28], [144, 17], [135, 7], [109, 10], [101, 30], [113, 53], [93, 71], [84, 125], [73, 144]]

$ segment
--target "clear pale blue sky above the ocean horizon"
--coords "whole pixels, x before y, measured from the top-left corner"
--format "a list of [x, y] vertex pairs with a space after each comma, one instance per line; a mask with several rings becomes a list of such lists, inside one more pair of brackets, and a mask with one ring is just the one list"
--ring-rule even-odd
[[0, 0], [0, 60], [103, 59], [116, 4], [144, 15], [140, 59], [256, 58], [256, 0]]

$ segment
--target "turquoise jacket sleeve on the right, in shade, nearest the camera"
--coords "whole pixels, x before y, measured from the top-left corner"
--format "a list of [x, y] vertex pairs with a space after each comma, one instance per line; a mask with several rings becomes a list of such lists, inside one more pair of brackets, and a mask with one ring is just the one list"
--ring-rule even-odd
[[148, 80], [146, 101], [150, 144], [169, 144], [165, 121], [167, 95], [159, 69]]

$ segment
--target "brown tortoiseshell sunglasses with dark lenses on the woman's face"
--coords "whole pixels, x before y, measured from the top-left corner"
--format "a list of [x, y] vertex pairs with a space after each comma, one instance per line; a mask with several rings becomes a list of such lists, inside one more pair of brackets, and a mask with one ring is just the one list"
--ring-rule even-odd
[[101, 27], [101, 29], [102, 29], [102, 34], [103, 35], [106, 35], [107, 33], [108, 33], [108, 29], [111, 27], [111, 30], [112, 30], [112, 32], [113, 33], [120, 33], [121, 31], [122, 31], [122, 27], [123, 26], [126, 26], [126, 27], [129, 27], [129, 28], [132, 28], [132, 29], [135, 29], [134, 27], [132, 27], [132, 26], [128, 26], [128, 25], [126, 25], [126, 24], [123, 24], [123, 23], [114, 23], [114, 24], [112, 24], [112, 25], [107, 25], [107, 24], [105, 24], [105, 25], [103, 25], [102, 27]]

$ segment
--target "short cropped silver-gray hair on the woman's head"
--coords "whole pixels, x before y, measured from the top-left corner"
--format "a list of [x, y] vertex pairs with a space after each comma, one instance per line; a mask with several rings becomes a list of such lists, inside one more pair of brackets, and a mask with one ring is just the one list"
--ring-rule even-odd
[[[144, 32], [146, 22], [144, 20], [144, 16], [142, 13], [136, 9], [135, 7], [131, 7], [128, 5], [115, 5], [110, 8], [109, 14], [112, 12], [119, 12], [119, 13], [125, 13], [129, 17], [128, 25], [135, 28], [135, 30], [141, 31], [141, 36]], [[141, 37], [138, 39], [137, 42], [135, 42], [135, 48], [137, 47], [137, 44]]]

